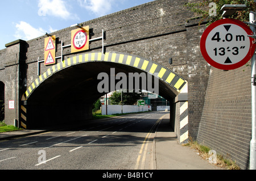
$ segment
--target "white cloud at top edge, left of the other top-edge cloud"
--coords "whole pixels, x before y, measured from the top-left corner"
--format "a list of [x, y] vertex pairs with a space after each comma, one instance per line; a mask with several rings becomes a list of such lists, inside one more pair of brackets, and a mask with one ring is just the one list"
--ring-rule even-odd
[[72, 14], [67, 9], [67, 2], [63, 0], [39, 0], [39, 16], [56, 16], [62, 19], [79, 19], [76, 14]]

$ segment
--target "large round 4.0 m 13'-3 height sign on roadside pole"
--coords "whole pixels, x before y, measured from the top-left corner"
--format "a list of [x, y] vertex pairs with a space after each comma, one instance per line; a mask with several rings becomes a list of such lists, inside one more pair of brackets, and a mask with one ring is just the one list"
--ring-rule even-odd
[[240, 68], [250, 60], [255, 51], [253, 32], [240, 20], [221, 19], [204, 31], [200, 49], [204, 59], [222, 70]]

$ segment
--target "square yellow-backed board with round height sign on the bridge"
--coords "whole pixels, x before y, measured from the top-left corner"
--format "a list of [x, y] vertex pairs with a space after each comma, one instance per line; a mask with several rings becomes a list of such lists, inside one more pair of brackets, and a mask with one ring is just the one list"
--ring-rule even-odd
[[89, 49], [89, 26], [71, 31], [71, 53]]

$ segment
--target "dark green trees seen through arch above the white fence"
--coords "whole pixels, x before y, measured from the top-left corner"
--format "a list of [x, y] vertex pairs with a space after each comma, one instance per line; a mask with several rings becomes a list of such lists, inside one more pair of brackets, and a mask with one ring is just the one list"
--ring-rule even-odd
[[112, 104], [133, 105], [137, 103], [138, 99], [141, 99], [141, 94], [137, 92], [122, 92], [123, 101], [121, 102], [121, 92], [115, 91], [109, 99]]

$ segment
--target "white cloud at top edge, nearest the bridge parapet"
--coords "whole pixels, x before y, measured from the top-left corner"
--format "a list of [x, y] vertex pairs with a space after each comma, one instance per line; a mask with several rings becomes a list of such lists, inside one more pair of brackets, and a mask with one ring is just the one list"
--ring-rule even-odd
[[98, 16], [109, 14], [112, 10], [112, 3], [115, 0], [78, 0], [79, 5], [86, 10], [92, 11]]

